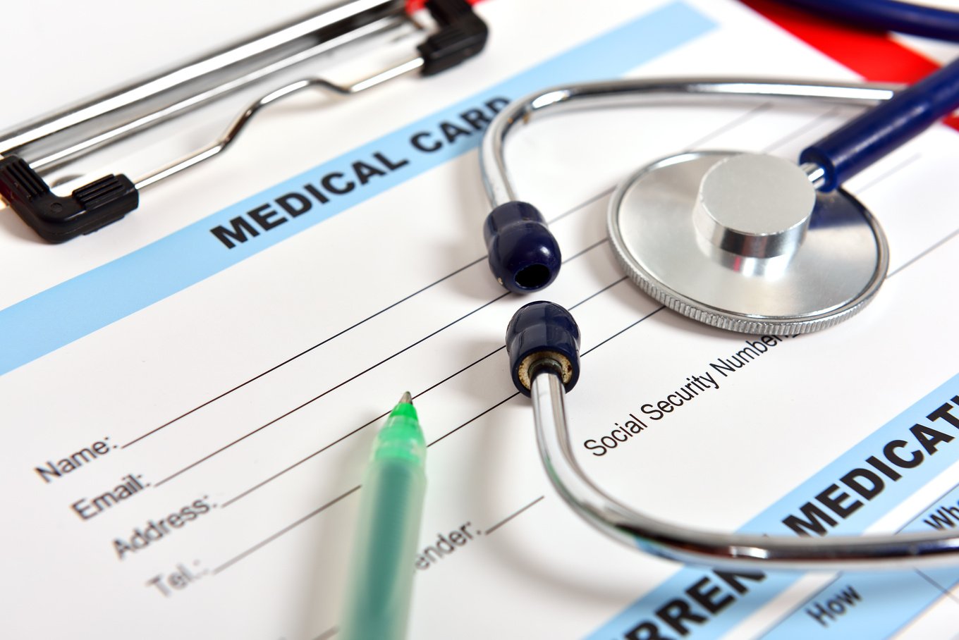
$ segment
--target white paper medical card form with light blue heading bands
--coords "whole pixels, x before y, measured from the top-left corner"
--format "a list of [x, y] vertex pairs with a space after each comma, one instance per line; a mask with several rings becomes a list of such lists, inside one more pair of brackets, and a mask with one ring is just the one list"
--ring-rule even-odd
[[[144, 194], [93, 236], [0, 238], [19, 261], [0, 311], [4, 635], [332, 637], [364, 459], [407, 389], [430, 443], [410, 637], [952, 634], [955, 571], [724, 577], [607, 541], [551, 490], [503, 352], [527, 300], [484, 263], [479, 133], [463, 114], [622, 75], [853, 79], [734, 3], [591, 9], [480, 5], [489, 48], [459, 70], [316, 114], [297, 103], [248, 149]], [[787, 534], [785, 517], [901, 440], [894, 452], [921, 463], [834, 530], [950, 525], [959, 441], [951, 414], [927, 416], [959, 403], [955, 131], [934, 128], [850, 184], [888, 233], [891, 277], [829, 331], [763, 340], [699, 326], [624, 281], [604, 240], [609, 189], [637, 166], [682, 149], [794, 158], [853, 113], [610, 111], [515, 141], [519, 193], [563, 247], [543, 297], [583, 332], [568, 402], [600, 486], [672, 521]], [[355, 186], [297, 216], [279, 204], [324, 179]], [[260, 207], [286, 221], [233, 248], [211, 232]], [[726, 363], [749, 342], [758, 356]], [[661, 420], [643, 412], [704, 374], [717, 388]], [[637, 437], [603, 455], [585, 446], [634, 415]]]

